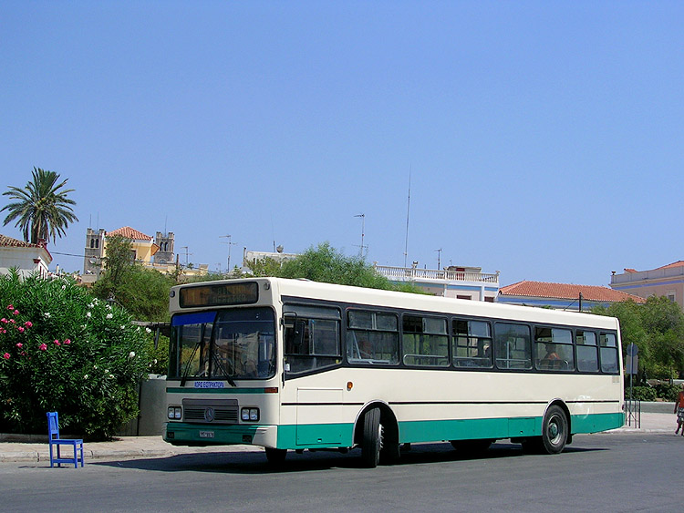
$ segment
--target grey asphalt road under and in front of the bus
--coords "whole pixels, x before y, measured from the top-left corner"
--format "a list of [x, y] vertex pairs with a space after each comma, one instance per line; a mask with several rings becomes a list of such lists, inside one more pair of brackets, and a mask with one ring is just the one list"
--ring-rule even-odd
[[398, 465], [358, 451], [208, 453], [49, 468], [0, 464], [0, 510], [36, 511], [678, 511], [684, 437], [575, 436], [557, 456], [497, 443], [482, 457], [413, 446]]

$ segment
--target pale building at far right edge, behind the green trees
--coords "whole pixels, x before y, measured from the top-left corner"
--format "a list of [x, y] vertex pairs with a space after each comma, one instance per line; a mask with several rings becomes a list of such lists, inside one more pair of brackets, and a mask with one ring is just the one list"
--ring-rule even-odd
[[684, 261], [668, 263], [648, 271], [625, 269], [621, 274], [613, 272], [610, 287], [642, 298], [666, 296], [684, 309]]

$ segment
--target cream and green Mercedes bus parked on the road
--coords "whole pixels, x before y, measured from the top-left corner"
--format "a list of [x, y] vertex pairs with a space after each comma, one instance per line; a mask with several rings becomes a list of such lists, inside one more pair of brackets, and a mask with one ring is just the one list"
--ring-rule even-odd
[[171, 290], [164, 439], [174, 445], [462, 450], [510, 438], [560, 453], [622, 426], [617, 319], [254, 278]]

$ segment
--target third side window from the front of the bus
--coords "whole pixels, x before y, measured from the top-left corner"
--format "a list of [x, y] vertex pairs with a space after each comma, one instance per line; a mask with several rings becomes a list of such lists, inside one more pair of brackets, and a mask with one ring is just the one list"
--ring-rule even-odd
[[449, 366], [449, 333], [446, 319], [404, 315], [402, 331], [404, 364]]

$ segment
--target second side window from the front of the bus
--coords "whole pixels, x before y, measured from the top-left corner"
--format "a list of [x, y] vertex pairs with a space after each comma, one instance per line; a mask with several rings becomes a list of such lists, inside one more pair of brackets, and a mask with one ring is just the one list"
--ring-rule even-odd
[[347, 312], [347, 360], [353, 364], [399, 364], [397, 314]]

